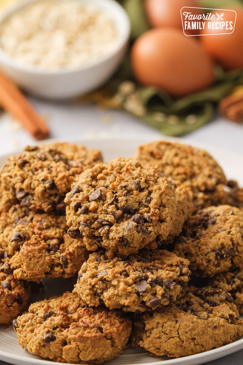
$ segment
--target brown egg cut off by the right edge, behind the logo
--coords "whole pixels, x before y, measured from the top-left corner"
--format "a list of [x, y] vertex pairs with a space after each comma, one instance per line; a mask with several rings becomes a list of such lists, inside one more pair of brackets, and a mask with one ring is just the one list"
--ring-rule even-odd
[[[243, 68], [243, 9], [234, 8], [236, 11], [235, 29], [231, 34], [205, 35], [212, 33], [208, 29], [207, 23], [205, 30], [201, 32], [201, 41], [204, 49], [225, 69]], [[219, 11], [217, 11], [219, 12]], [[216, 11], [212, 12], [216, 15]], [[223, 20], [226, 22], [234, 21], [235, 14], [233, 12], [225, 12]], [[222, 33], [220, 29], [213, 30], [214, 33]]]

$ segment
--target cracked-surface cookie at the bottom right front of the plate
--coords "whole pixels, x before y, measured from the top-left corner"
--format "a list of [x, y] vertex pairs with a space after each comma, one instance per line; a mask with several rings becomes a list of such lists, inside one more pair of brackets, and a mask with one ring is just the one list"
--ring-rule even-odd
[[190, 287], [171, 307], [135, 316], [132, 345], [157, 356], [188, 356], [235, 341], [243, 320], [221, 289]]

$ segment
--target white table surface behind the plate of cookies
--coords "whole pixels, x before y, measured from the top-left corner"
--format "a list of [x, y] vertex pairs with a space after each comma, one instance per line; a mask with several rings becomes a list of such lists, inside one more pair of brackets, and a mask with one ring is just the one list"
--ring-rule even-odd
[[[157, 130], [140, 122], [137, 118], [122, 111], [101, 110], [93, 105], [51, 103], [30, 98], [36, 110], [48, 119], [51, 138], [68, 139], [68, 136], [87, 136], [107, 138], [112, 136], [139, 137], [139, 135], [162, 139]], [[211, 123], [184, 137], [194, 145], [197, 142], [230, 150], [243, 157], [243, 124], [228, 122], [216, 117]], [[181, 141], [183, 142], [183, 139]], [[11, 153], [35, 140], [19, 127], [6, 114], [0, 115], [0, 154]], [[239, 166], [240, 169], [243, 168]], [[219, 360], [208, 362], [209, 365], [240, 365], [243, 363], [243, 350]], [[0, 361], [0, 365], [7, 363]]]

